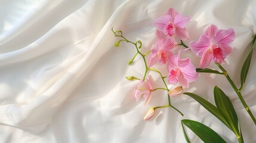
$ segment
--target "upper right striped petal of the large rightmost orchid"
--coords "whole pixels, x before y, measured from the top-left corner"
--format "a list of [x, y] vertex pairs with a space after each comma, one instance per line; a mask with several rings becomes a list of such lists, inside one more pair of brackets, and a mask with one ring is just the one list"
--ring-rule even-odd
[[229, 45], [235, 40], [234, 29], [219, 30], [214, 37], [214, 43], [216, 45]]

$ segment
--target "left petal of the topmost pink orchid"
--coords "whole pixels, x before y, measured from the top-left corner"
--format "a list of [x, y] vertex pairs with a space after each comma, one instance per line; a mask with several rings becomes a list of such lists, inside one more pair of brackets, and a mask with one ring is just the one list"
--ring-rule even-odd
[[172, 21], [172, 17], [170, 15], [164, 15], [162, 17], [156, 18], [153, 21], [153, 26], [155, 26], [159, 30], [164, 30], [166, 24]]

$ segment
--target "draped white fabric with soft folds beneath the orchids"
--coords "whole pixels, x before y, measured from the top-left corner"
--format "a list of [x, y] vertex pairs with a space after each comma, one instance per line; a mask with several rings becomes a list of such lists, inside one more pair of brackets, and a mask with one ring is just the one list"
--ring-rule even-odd
[[[143, 60], [137, 57], [128, 66], [135, 48], [128, 43], [115, 48], [119, 39], [111, 28], [143, 42], [146, 52], [155, 38], [152, 21], [170, 7], [191, 15], [186, 26], [190, 41], [210, 24], [235, 30], [233, 51], [223, 66], [239, 86], [240, 67], [256, 32], [256, 1], [0, 1], [0, 142], [186, 142], [182, 119], [202, 122], [227, 142], [237, 142], [234, 133], [186, 95], [171, 97], [184, 117], [162, 108], [149, 122], [143, 120], [150, 107], [167, 103], [166, 94], [154, 92], [147, 106], [135, 102], [138, 81], [125, 76], [142, 77]], [[183, 56], [199, 67], [194, 54]], [[217, 69], [213, 63], [210, 68]], [[256, 116], [255, 72], [254, 51], [242, 94]], [[162, 86], [159, 75], [152, 75], [154, 86]], [[256, 126], [223, 76], [203, 73], [187, 92], [213, 103], [215, 85], [232, 98], [245, 142], [256, 142]], [[192, 142], [202, 142], [187, 131]]]

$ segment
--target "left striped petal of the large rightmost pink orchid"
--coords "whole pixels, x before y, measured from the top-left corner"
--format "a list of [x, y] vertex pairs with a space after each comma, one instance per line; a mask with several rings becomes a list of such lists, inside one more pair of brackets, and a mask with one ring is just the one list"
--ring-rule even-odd
[[198, 57], [202, 57], [203, 52], [211, 46], [211, 42], [208, 36], [201, 35], [198, 41], [192, 41], [189, 43], [190, 49], [195, 52]]

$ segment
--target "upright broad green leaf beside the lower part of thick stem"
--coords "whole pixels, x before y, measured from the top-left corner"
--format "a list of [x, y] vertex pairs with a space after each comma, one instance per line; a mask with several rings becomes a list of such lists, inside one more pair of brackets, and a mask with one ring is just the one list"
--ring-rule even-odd
[[224, 94], [218, 86], [214, 87], [214, 100], [218, 110], [220, 110], [222, 116], [226, 119], [227, 123], [229, 123], [233, 132], [237, 137], [240, 137], [240, 126], [235, 108], [233, 107], [229, 97], [227, 97], [227, 95]]

